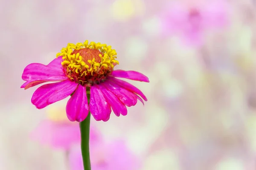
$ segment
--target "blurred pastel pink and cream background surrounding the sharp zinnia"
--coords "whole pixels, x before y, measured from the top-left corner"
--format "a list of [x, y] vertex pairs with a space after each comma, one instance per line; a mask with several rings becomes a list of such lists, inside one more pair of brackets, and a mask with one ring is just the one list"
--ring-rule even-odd
[[0, 4], [1, 170], [82, 170], [79, 149], [73, 154], [78, 123], [65, 122], [68, 98], [38, 110], [30, 102], [37, 87], [20, 85], [26, 65], [48, 64], [84, 40], [111, 45], [115, 68], [150, 80], [131, 82], [145, 106], [91, 119], [93, 170], [256, 170], [255, 0]]

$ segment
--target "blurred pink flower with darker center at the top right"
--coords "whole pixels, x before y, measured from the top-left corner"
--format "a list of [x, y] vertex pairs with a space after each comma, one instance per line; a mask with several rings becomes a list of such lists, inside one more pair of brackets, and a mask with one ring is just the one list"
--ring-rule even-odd
[[224, 28], [228, 23], [228, 6], [224, 0], [188, 6], [172, 2], [162, 14], [163, 34], [178, 34], [187, 45], [201, 45], [206, 29]]

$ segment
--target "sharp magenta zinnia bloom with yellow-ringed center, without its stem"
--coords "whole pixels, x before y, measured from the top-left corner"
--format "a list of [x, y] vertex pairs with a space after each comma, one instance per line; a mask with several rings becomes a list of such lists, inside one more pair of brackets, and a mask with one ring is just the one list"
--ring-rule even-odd
[[[134, 106], [146, 96], [134, 85], [119, 78], [149, 82], [148, 77], [137, 71], [113, 70], [119, 62], [116, 51], [106, 44], [90, 42], [69, 43], [57, 58], [48, 65], [32, 63], [26, 66], [21, 88], [28, 89], [44, 82], [54, 82], [39, 87], [31, 102], [38, 109], [72, 96], [66, 112], [70, 121], [83, 121], [90, 110], [97, 121], [108, 121], [111, 108], [116, 116], [126, 115], [126, 106]], [[87, 94], [90, 94], [88, 105]], [[143, 103], [144, 104], [144, 103]]]

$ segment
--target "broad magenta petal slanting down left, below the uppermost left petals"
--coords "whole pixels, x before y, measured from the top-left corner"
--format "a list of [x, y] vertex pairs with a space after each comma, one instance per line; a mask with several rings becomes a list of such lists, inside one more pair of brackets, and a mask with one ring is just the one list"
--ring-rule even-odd
[[65, 99], [76, 90], [77, 84], [70, 80], [42, 85], [33, 94], [31, 102], [38, 109]]

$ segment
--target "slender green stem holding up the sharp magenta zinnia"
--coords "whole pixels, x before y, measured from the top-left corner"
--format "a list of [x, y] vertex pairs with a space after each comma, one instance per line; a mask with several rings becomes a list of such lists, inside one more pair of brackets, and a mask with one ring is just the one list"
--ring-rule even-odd
[[79, 123], [81, 132], [81, 151], [84, 163], [84, 170], [91, 170], [90, 166], [90, 152], [89, 152], [89, 139], [90, 139], [90, 112], [83, 122]]

